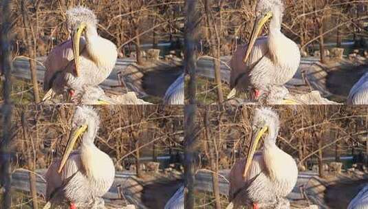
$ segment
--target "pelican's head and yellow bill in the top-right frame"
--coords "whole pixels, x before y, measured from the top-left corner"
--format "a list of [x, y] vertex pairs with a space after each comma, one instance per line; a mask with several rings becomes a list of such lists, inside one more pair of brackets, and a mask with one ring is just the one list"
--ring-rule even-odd
[[248, 48], [246, 51], [246, 56], [243, 62], [248, 61], [250, 52], [252, 52], [252, 47], [255, 45], [259, 34], [266, 22], [273, 18], [277, 21], [270, 25], [270, 28], [276, 28], [281, 26], [281, 20], [283, 17], [283, 3], [281, 0], [259, 0], [256, 6], [256, 19], [255, 25], [253, 25], [252, 34], [250, 34], [250, 39], [248, 43]]

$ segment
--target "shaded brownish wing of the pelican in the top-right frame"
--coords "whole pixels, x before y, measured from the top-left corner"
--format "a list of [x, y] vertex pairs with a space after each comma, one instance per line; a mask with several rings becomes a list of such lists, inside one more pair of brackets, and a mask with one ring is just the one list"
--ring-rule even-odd
[[[258, 63], [263, 56], [268, 53], [268, 38], [266, 36], [260, 37], [255, 42], [255, 45], [250, 52], [247, 63], [243, 63], [243, 58], [246, 55], [248, 45], [238, 47], [232, 55], [230, 60], [230, 88], [239, 87], [238, 83], [249, 83], [248, 74], [252, 67]], [[239, 81], [241, 79], [241, 81]], [[243, 85], [241, 85], [243, 86]], [[244, 85], [248, 86], [248, 85]]]

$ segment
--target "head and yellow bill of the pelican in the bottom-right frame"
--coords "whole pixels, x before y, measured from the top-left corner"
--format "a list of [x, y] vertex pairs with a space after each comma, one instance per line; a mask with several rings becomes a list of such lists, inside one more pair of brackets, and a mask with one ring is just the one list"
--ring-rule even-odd
[[252, 120], [252, 141], [248, 149], [246, 158], [246, 167], [244, 168], [243, 177], [248, 175], [248, 170], [252, 164], [253, 156], [257, 149], [257, 145], [262, 135], [266, 134], [264, 145], [276, 144], [277, 133], [279, 132], [279, 115], [271, 108], [262, 107], [256, 109]]

